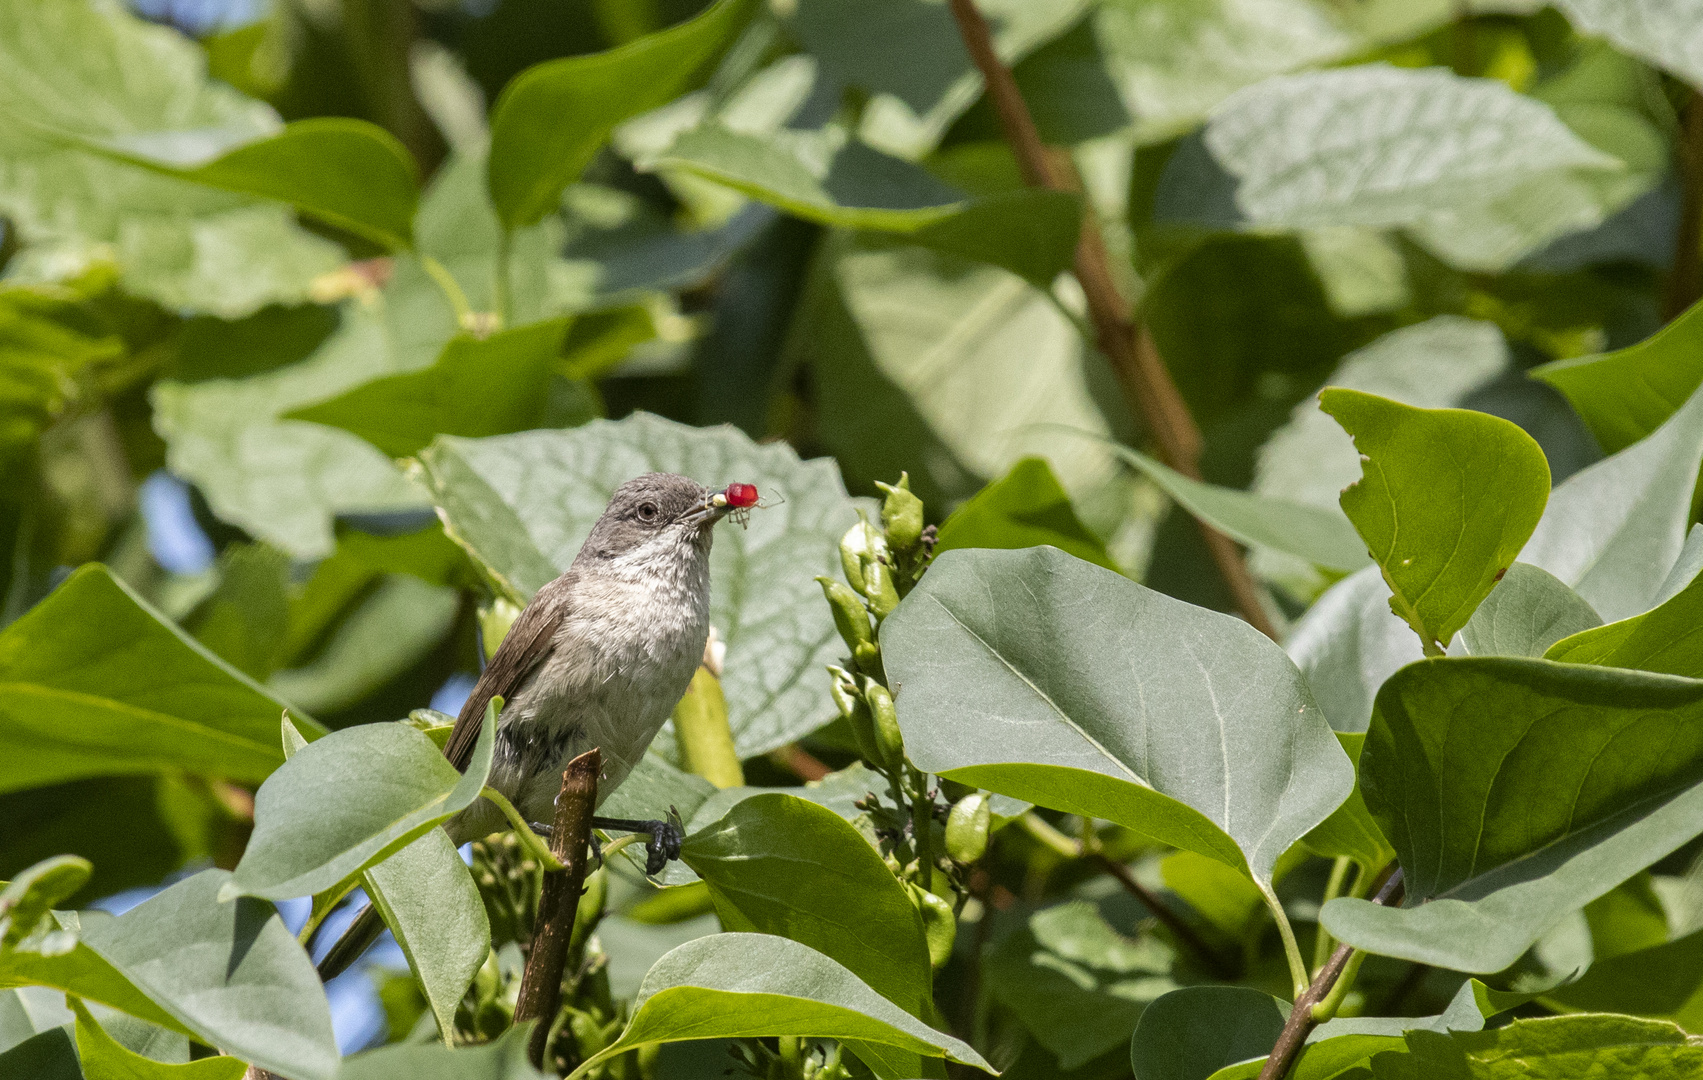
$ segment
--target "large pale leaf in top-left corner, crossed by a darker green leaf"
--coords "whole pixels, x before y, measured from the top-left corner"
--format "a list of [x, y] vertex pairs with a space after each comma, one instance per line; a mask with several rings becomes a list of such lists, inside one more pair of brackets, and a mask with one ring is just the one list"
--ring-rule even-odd
[[121, 5], [0, 3], [0, 213], [26, 240], [12, 276], [118, 262], [126, 290], [175, 310], [247, 315], [295, 303], [342, 256], [274, 203], [107, 160], [41, 126], [87, 138], [218, 129], [264, 138], [278, 118], [206, 78], [194, 41]]

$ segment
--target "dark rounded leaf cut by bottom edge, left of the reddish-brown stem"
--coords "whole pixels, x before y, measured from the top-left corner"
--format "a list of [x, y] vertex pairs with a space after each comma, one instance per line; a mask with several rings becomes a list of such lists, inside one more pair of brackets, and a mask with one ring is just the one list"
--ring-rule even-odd
[[1129, 1043], [1136, 1080], [1206, 1080], [1270, 1053], [1289, 1005], [1248, 986], [1184, 986], [1148, 1005]]

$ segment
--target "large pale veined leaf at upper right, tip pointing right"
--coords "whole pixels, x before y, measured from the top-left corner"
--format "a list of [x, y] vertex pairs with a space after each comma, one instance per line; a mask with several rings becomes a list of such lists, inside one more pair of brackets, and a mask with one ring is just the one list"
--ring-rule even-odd
[[1502, 269], [1599, 225], [1655, 179], [1505, 83], [1439, 68], [1267, 78], [1213, 112], [1204, 143], [1248, 225], [1408, 227], [1470, 269]]

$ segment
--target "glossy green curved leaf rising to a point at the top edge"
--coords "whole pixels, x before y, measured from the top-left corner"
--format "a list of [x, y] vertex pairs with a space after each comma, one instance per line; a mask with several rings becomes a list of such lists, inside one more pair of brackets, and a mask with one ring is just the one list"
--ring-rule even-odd
[[485, 182], [509, 230], [550, 213], [615, 124], [654, 109], [720, 53], [746, 20], [746, 0], [717, 0], [698, 17], [608, 53], [526, 68], [490, 112]]

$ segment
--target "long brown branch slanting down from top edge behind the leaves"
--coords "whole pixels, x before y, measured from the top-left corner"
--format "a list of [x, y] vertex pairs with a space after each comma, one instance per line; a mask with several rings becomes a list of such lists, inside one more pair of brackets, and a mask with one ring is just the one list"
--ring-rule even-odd
[[[1000, 114], [1005, 140], [1012, 145], [1012, 153], [1017, 155], [1024, 182], [1030, 187], [1071, 191], [1071, 177], [1059, 162], [1052, 160], [1041, 141], [1041, 131], [1024, 102], [1022, 90], [1017, 89], [1012, 70], [993, 51], [988, 22], [976, 10], [972, 0], [950, 0], [950, 3], [959, 34], [964, 37], [964, 48], [988, 83], [988, 95]], [[1112, 259], [1105, 250], [1105, 238], [1100, 235], [1100, 225], [1092, 208], [1085, 213], [1081, 237], [1076, 242], [1076, 281], [1081, 283], [1081, 291], [1088, 300], [1088, 320], [1093, 324], [1095, 344], [1112, 365], [1131, 414], [1139, 416], [1148, 431], [1153, 433], [1160, 458], [1167, 465], [1187, 477], [1201, 479], [1201, 429], [1189, 414], [1189, 405], [1184, 404], [1170, 371], [1165, 370], [1153, 336], [1146, 325], [1136, 325], [1129, 319], [1129, 303], [1117, 291], [1117, 283], [1112, 278]], [[1276, 641], [1277, 629], [1265, 615], [1259, 584], [1248, 572], [1241, 549], [1206, 521], [1199, 521], [1199, 525], [1213, 562], [1218, 564], [1218, 572], [1230, 586], [1236, 610], [1255, 629]]]

